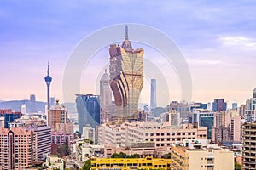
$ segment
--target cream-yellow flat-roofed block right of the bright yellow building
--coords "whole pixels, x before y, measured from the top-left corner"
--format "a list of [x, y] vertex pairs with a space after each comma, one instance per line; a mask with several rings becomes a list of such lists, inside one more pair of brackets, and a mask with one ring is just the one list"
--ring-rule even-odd
[[171, 161], [173, 170], [233, 170], [234, 153], [221, 148], [194, 148], [172, 146]]

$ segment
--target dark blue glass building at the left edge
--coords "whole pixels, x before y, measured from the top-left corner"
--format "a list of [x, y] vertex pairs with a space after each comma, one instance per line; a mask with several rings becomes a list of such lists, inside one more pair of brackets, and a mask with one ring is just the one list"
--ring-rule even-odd
[[0, 116], [4, 117], [4, 128], [8, 128], [8, 123], [21, 117], [20, 111], [13, 112], [11, 109], [0, 109]]

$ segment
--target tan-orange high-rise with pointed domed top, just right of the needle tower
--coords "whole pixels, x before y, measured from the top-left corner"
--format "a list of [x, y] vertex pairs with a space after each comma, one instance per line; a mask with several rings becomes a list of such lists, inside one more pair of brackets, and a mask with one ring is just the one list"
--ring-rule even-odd
[[68, 117], [67, 108], [64, 105], [60, 105], [59, 100], [56, 99], [56, 104], [48, 111], [48, 126], [56, 130], [58, 123], [68, 123]]

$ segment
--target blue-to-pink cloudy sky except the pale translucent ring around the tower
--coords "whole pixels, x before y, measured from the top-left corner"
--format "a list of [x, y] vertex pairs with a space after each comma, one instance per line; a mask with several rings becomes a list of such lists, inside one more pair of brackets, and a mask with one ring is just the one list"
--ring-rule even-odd
[[[189, 65], [193, 101], [224, 98], [245, 103], [256, 88], [255, 9], [256, 3], [246, 0], [0, 1], [0, 100], [29, 99], [36, 94], [37, 100], [45, 101], [48, 61], [51, 95], [62, 99], [65, 66], [79, 42], [106, 26], [136, 23], [151, 26], [176, 43]], [[173, 67], [154, 48], [132, 43], [144, 48], [144, 58], [157, 64], [166, 77], [166, 88], [157, 88], [157, 104], [180, 100]], [[84, 68], [78, 93], [98, 94], [108, 58], [108, 47], [96, 52]], [[144, 72], [150, 70], [147, 61]], [[157, 87], [160, 84], [157, 81]], [[149, 103], [147, 75], [140, 102]]]

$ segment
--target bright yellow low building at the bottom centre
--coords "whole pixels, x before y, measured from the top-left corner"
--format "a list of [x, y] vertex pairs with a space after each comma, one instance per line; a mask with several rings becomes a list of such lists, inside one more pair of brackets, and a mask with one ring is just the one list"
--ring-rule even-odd
[[171, 169], [170, 159], [161, 158], [92, 158], [91, 169]]

